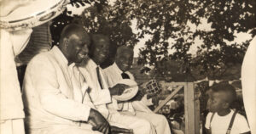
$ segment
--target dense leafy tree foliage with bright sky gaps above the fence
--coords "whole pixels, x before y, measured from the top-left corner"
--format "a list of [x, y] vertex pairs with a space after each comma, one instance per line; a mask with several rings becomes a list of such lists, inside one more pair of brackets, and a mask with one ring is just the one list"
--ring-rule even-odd
[[[140, 49], [138, 64], [154, 65], [165, 74], [160, 64], [180, 61], [180, 74], [221, 78], [230, 67], [241, 64], [248, 41], [232, 42], [234, 33], [256, 34], [254, 0], [116, 0], [87, 1], [92, 7], [75, 17], [90, 33], [110, 36], [113, 50], [121, 45], [135, 46], [139, 39], [151, 36]], [[131, 30], [137, 22], [137, 32]], [[209, 29], [200, 28], [206, 21]], [[201, 44], [197, 41], [200, 40]], [[232, 43], [230, 43], [232, 42]], [[196, 46], [195, 55], [189, 53]], [[174, 53], [170, 53], [170, 51]], [[112, 53], [113, 57], [114, 53]], [[111, 59], [111, 58], [110, 58]], [[167, 69], [168, 70], [168, 69]]]

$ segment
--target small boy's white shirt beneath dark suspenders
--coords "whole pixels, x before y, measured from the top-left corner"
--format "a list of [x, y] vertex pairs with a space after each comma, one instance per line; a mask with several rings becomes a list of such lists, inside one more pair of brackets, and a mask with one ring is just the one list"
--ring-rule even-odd
[[[225, 116], [219, 116], [216, 113], [213, 115], [211, 123], [212, 113], [207, 114], [206, 128], [210, 129], [211, 126], [212, 134], [225, 134], [230, 126], [230, 120], [233, 114], [234, 110], [231, 110], [230, 114]], [[250, 131], [247, 120], [244, 116], [237, 113], [230, 134], [241, 134], [247, 131]]]

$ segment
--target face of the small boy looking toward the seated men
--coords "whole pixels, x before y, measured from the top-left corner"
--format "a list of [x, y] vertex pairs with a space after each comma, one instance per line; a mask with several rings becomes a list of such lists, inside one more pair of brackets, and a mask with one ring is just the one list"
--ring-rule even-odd
[[224, 109], [224, 92], [211, 92], [208, 102], [207, 102], [207, 107], [210, 112], [218, 112], [222, 109]]

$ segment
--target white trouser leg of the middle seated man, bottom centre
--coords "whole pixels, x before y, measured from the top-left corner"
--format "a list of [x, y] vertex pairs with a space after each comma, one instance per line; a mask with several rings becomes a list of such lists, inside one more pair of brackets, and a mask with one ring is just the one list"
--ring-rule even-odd
[[148, 120], [132, 114], [112, 113], [109, 114], [108, 121], [113, 126], [132, 129], [134, 134], [156, 134], [154, 126]]

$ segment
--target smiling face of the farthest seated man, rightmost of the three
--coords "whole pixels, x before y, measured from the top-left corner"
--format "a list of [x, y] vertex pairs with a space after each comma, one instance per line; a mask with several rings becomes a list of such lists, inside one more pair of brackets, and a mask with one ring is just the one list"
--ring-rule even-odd
[[129, 51], [124, 51], [124, 53], [117, 55], [115, 59], [115, 63], [118, 65], [119, 69], [124, 72], [131, 69], [132, 61], [133, 53]]

